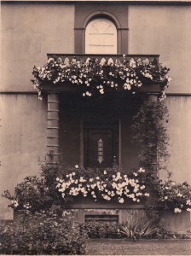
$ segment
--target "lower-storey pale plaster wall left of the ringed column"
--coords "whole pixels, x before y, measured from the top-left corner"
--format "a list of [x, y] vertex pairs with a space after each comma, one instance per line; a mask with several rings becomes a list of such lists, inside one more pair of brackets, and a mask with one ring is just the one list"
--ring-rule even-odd
[[[2, 95], [0, 195], [40, 171], [38, 160], [46, 152], [47, 104], [37, 95]], [[0, 199], [0, 218], [10, 218], [7, 201]]]

